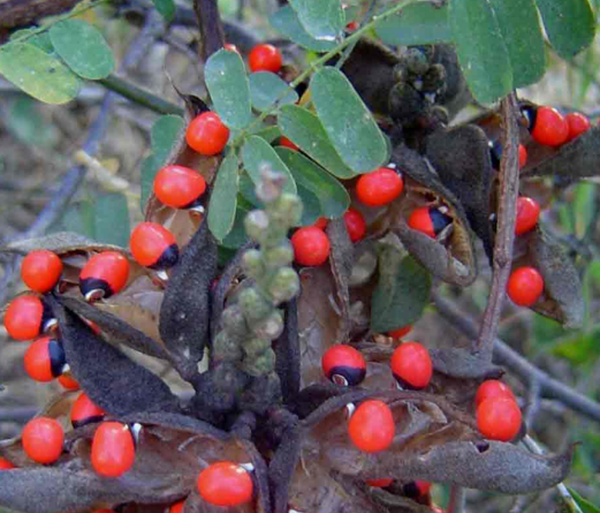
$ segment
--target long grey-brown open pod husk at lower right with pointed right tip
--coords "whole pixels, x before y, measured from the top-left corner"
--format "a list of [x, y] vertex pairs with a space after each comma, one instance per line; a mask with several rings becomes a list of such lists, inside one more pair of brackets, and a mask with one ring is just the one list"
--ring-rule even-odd
[[439, 413], [410, 402], [390, 404], [396, 421], [392, 444], [376, 454], [359, 451], [349, 440], [344, 412], [326, 416], [315, 428], [307, 451], [359, 479], [421, 479], [507, 494], [555, 486], [571, 469], [573, 448], [538, 456], [510, 443], [481, 439], [470, 426], [441, 421]]

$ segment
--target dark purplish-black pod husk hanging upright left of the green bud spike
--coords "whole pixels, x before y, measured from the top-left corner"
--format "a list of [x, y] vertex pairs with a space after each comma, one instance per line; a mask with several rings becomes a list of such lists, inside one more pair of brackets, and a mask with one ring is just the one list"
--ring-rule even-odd
[[208, 343], [210, 288], [217, 272], [217, 243], [202, 222], [173, 269], [160, 308], [160, 336], [178, 367], [195, 374]]

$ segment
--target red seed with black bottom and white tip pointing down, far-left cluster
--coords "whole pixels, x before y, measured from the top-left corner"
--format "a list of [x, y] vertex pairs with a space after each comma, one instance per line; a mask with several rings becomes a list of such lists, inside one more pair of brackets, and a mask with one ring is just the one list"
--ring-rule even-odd
[[129, 268], [129, 260], [118, 251], [98, 253], [79, 273], [79, 289], [87, 300], [109, 298], [125, 287]]

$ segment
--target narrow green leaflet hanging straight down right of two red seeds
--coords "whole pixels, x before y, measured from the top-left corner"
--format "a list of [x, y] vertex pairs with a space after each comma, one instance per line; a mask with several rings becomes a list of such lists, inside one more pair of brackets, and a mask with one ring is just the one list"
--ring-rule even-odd
[[233, 228], [237, 193], [238, 160], [237, 155], [231, 152], [223, 159], [217, 171], [208, 208], [208, 227], [218, 240], [223, 240]]

